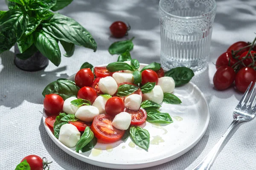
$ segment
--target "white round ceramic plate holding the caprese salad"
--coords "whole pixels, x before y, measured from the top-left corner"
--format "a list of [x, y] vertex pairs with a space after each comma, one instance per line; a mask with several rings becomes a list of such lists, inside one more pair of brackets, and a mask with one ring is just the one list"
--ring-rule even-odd
[[[145, 64], [140, 64], [144, 67]], [[100, 65], [106, 66], [106, 65]], [[69, 77], [74, 79], [74, 75]], [[148, 152], [135, 146], [128, 139], [126, 142], [112, 144], [97, 143], [93, 150], [86, 153], [76, 153], [75, 147], [69, 148], [58, 141], [45, 124], [47, 117], [43, 113], [44, 127], [50, 138], [69, 155], [76, 159], [100, 167], [135, 169], [152, 167], [176, 159], [189, 151], [199, 142], [209, 124], [209, 106], [200, 89], [189, 82], [175, 88], [174, 94], [180, 98], [180, 105], [163, 103], [161, 111], [171, 115], [173, 123], [157, 126], [144, 123], [143, 128], [150, 133], [151, 144]]]

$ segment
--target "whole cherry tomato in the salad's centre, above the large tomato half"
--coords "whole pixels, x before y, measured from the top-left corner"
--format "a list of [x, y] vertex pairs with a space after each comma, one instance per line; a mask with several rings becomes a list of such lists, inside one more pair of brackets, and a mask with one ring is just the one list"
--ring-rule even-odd
[[111, 97], [105, 105], [105, 111], [111, 116], [116, 116], [118, 113], [123, 112], [125, 103], [120, 97]]

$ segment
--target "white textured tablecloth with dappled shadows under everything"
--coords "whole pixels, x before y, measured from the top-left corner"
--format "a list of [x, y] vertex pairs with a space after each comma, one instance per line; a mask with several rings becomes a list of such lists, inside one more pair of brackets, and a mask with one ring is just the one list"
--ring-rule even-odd
[[[0, 10], [7, 7], [2, 0]], [[14, 170], [24, 156], [36, 154], [53, 161], [51, 170], [99, 170], [69, 156], [49, 138], [42, 123], [44, 87], [59, 77], [79, 70], [85, 61], [93, 65], [114, 62], [108, 53], [116, 41], [108, 27], [113, 21], [130, 23], [129, 37], [135, 37], [132, 57], [139, 62], [160, 62], [158, 0], [74, 0], [60, 11], [87, 28], [96, 42], [96, 53], [76, 46], [73, 57], [62, 57], [57, 68], [52, 63], [42, 71], [26, 72], [14, 65], [13, 48], [0, 55], [0, 169]], [[191, 170], [225, 132], [233, 120], [232, 110], [241, 99], [233, 88], [216, 91], [212, 86], [215, 67], [212, 62], [233, 42], [252, 41], [256, 36], [255, 0], [217, 0], [217, 14], [212, 34], [209, 69], [192, 81], [203, 91], [210, 107], [209, 127], [198, 144], [179, 158], [148, 170]], [[61, 53], [64, 50], [61, 47]], [[248, 158], [248, 159], [247, 159]], [[256, 167], [256, 122], [241, 125], [219, 154], [212, 170], [253, 170]]]

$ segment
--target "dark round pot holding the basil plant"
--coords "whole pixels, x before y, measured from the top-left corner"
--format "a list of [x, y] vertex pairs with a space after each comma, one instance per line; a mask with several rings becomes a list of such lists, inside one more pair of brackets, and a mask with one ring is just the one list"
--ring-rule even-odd
[[35, 52], [28, 59], [19, 59], [16, 57], [17, 54], [20, 54], [20, 50], [17, 46], [17, 43], [14, 46], [15, 51], [15, 65], [24, 71], [39, 71], [47, 67], [49, 64], [49, 59], [45, 57], [40, 51]]

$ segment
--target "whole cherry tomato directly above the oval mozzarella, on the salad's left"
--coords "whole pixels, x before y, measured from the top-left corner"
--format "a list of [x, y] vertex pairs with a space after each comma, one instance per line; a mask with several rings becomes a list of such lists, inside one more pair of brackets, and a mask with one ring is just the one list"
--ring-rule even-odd
[[78, 99], [86, 99], [89, 100], [92, 104], [94, 100], [97, 98], [96, 91], [93, 90], [91, 87], [83, 87], [77, 93]]

